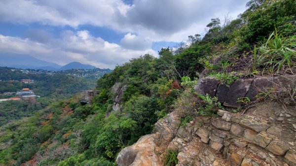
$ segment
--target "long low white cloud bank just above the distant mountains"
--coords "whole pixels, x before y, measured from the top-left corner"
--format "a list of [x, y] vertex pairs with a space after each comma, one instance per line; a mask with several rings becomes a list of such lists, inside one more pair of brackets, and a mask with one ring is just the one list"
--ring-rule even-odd
[[31, 39], [4, 36], [0, 34], [1, 52], [29, 54], [37, 59], [65, 65], [78, 61], [100, 68], [113, 68], [116, 64], [123, 64], [131, 58], [144, 54], [156, 55], [151, 49], [142, 51], [131, 50], [115, 43], [109, 43], [102, 38], [90, 35], [88, 31], [69, 31], [61, 34], [61, 39], [52, 39], [43, 44]]

